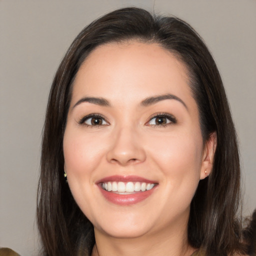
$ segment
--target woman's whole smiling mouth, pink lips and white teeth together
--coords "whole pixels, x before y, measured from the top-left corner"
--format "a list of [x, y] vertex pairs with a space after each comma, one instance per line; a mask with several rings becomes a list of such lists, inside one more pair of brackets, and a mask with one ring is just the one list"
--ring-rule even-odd
[[150, 196], [158, 185], [153, 180], [138, 176], [109, 176], [96, 182], [100, 192], [107, 201], [130, 205]]

